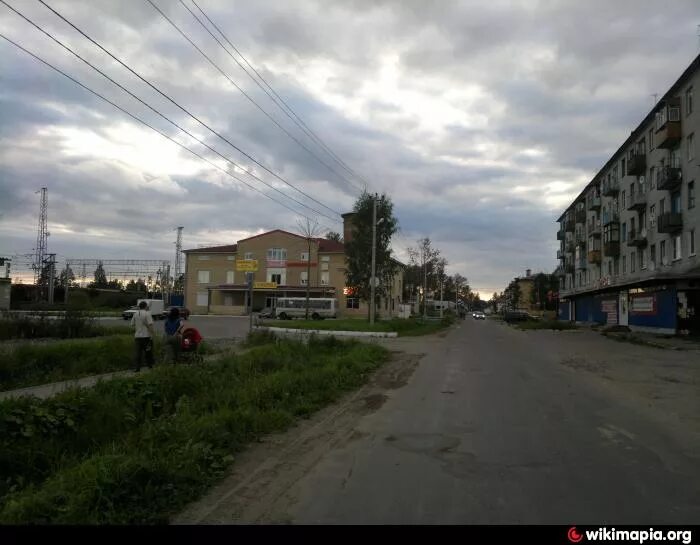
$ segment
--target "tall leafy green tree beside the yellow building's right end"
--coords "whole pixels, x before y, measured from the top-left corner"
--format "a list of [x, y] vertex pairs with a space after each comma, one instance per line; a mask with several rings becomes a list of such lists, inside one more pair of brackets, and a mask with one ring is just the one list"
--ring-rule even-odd
[[[370, 300], [372, 275], [372, 207], [377, 200], [377, 243], [375, 294], [386, 295], [386, 279], [396, 273], [398, 265], [391, 258], [391, 237], [398, 230], [399, 222], [394, 216], [394, 205], [386, 194], [370, 195], [364, 192], [355, 202], [352, 221], [352, 239], [345, 241], [347, 268], [345, 272], [348, 287], [364, 301]], [[376, 305], [376, 301], [372, 304]]]

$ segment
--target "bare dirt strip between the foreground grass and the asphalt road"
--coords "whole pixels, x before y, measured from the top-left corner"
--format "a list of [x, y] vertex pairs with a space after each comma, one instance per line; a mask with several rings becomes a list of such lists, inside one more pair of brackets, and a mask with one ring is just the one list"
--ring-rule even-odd
[[[418, 343], [411, 343], [415, 348]], [[233, 473], [174, 517], [173, 524], [288, 523], [270, 519], [289, 489], [329, 451], [364, 436], [359, 419], [378, 410], [403, 387], [421, 354], [392, 352], [391, 360], [358, 391], [285, 433], [268, 436], [236, 460]], [[262, 461], [262, 462], [261, 462]], [[349, 477], [348, 477], [349, 478]]]

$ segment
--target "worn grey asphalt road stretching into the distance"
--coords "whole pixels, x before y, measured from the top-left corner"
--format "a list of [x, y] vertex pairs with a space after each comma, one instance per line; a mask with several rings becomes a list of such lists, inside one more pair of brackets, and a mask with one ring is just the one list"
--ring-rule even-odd
[[[697, 420], [665, 419], [604, 378], [562, 365], [542, 338], [467, 320], [427, 342], [408, 383], [251, 520], [697, 523]], [[280, 467], [276, 480], [294, 460]], [[264, 492], [247, 488], [252, 503]], [[198, 522], [245, 522], [227, 510], [231, 490], [205, 499]]]

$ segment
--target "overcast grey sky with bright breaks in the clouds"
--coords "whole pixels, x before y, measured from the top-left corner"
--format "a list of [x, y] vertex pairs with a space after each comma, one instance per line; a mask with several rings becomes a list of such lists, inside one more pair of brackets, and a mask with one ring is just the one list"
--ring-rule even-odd
[[[700, 24], [697, 0], [196, 0], [356, 177], [285, 117], [180, 2], [153, 0], [307, 149], [146, 0], [46, 0], [329, 210], [253, 164], [43, 5], [6, 1], [279, 192], [239, 172], [248, 183], [322, 225], [342, 232], [331, 210], [349, 211], [355, 186], [386, 192], [401, 226], [397, 257], [430, 237], [449, 272], [468, 277], [484, 298], [527, 268], [555, 268], [556, 218], [648, 113], [652, 95], [693, 60]], [[236, 172], [2, 4], [0, 32]], [[178, 225], [192, 248], [296, 230], [299, 217], [0, 39], [0, 255], [33, 251], [42, 186], [49, 251], [59, 261], [174, 260]]]

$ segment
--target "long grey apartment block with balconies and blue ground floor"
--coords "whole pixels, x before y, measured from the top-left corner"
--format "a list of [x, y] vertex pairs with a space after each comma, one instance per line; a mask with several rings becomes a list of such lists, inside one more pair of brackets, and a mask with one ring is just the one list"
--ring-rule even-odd
[[557, 220], [561, 319], [700, 333], [696, 90], [700, 56]]

